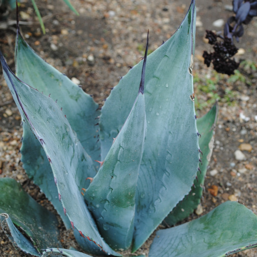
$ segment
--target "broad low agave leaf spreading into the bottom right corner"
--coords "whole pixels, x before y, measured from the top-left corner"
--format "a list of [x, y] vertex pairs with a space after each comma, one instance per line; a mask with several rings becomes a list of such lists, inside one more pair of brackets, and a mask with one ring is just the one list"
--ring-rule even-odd
[[188, 223], [157, 231], [149, 257], [225, 257], [257, 246], [257, 216], [227, 201]]

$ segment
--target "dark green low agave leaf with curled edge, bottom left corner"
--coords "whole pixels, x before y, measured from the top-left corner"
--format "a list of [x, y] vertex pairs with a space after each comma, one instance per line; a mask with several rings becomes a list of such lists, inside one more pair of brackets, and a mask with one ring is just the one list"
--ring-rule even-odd
[[52, 244], [61, 246], [57, 239], [59, 230], [55, 215], [39, 205], [14, 179], [0, 179], [0, 213], [4, 231], [23, 251], [40, 256], [41, 248]]

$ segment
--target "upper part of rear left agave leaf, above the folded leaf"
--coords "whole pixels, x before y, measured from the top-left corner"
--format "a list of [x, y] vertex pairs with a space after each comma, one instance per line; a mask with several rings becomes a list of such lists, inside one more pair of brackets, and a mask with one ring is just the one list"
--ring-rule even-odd
[[[93, 160], [98, 160], [100, 143], [97, 143], [96, 139], [98, 134], [95, 118], [100, 112], [96, 110], [98, 104], [93, 98], [39, 57], [24, 41], [19, 31], [15, 62], [19, 79], [57, 100], [81, 145]], [[97, 163], [95, 165], [99, 168]]]

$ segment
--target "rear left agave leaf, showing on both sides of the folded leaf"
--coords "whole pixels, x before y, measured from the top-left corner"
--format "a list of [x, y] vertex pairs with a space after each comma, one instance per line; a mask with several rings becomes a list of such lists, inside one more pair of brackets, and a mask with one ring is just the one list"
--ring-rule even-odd
[[[40, 58], [24, 41], [19, 30], [16, 42], [16, 73], [22, 81], [57, 99], [57, 104], [62, 108], [86, 152], [93, 160], [99, 159], [100, 146], [97, 143], [94, 125], [95, 118], [99, 115], [99, 111], [96, 110], [98, 104], [67, 76]], [[64, 215], [63, 207], [57, 197], [58, 192], [48, 158], [26, 123], [23, 125], [21, 153], [26, 173], [52, 202], [65, 226], [70, 227], [70, 222]], [[99, 167], [97, 163], [94, 165], [96, 168]]]

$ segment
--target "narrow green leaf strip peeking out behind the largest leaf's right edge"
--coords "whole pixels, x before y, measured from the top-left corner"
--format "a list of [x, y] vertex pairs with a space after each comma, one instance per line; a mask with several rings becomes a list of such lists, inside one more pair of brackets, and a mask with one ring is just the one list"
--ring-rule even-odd
[[207, 166], [212, 154], [214, 143], [214, 128], [218, 114], [217, 103], [210, 109], [210, 111], [203, 117], [196, 120], [197, 129], [201, 134], [199, 139], [199, 147], [202, 152], [202, 163], [199, 165], [200, 171], [197, 173], [197, 179], [194, 181], [194, 186], [191, 188], [190, 193], [178, 203], [172, 212], [165, 218], [164, 223], [170, 226], [175, 225], [177, 222], [187, 218], [197, 208], [200, 203], [204, 179], [206, 176]]

